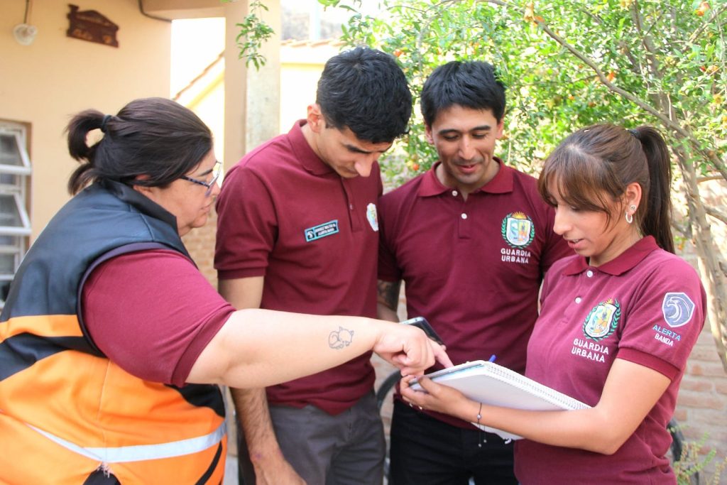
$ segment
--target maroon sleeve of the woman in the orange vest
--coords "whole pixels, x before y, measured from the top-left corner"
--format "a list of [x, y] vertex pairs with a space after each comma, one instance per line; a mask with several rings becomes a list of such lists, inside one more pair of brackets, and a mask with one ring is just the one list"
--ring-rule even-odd
[[178, 386], [235, 311], [190, 260], [163, 250], [101, 263], [81, 301], [89, 334], [111, 361], [141, 379]]

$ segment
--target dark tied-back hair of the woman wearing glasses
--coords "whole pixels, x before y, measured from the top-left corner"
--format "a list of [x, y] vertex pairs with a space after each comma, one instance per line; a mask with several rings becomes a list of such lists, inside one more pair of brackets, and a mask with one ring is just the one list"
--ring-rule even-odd
[[[93, 129], [104, 133], [87, 145]], [[162, 97], [134, 100], [116, 116], [89, 109], [68, 123], [68, 151], [81, 162], [68, 180], [78, 193], [95, 180], [165, 187], [197, 167], [212, 150], [212, 132], [188, 108]], [[138, 175], [147, 175], [136, 180]]]

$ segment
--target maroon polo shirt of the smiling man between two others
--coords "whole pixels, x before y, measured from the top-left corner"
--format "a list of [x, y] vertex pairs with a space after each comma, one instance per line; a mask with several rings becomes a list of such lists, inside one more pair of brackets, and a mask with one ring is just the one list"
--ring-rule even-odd
[[494, 355], [522, 373], [543, 275], [573, 252], [537, 180], [495, 160], [497, 175], [466, 201], [439, 182], [437, 164], [382, 196], [379, 279], [404, 281], [409, 317], [427, 318], [454, 364]]

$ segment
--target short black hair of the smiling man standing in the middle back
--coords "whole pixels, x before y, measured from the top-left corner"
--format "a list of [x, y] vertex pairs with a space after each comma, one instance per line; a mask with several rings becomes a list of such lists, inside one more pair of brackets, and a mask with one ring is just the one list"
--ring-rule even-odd
[[452, 105], [490, 110], [499, 123], [505, 116], [505, 85], [489, 63], [453, 60], [430, 74], [420, 104], [424, 122], [430, 127], [438, 113]]

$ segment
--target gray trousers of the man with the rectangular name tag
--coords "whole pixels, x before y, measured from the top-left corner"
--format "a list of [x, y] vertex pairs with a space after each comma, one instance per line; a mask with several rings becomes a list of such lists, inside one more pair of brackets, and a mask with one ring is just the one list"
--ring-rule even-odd
[[[382, 484], [386, 444], [373, 390], [336, 416], [315, 406], [270, 406], [270, 417], [284, 457], [308, 485]], [[254, 484], [244, 442], [238, 453], [241, 484]]]

